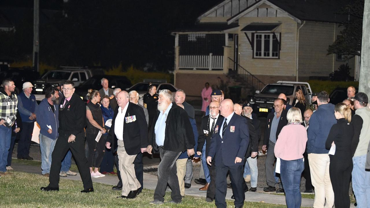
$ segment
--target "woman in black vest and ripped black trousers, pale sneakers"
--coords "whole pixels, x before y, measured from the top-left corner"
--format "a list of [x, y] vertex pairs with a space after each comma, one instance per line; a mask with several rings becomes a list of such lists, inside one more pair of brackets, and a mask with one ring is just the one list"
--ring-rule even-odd
[[[86, 141], [88, 145], [88, 157], [90, 174], [93, 178], [104, 177], [105, 175], [101, 174], [98, 169], [101, 161], [103, 160], [105, 153], [105, 141], [100, 139], [99, 142], [95, 141], [96, 136], [99, 131], [103, 134], [105, 133], [103, 115], [100, 108], [100, 94], [97, 90], [88, 90], [88, 96], [90, 102], [86, 104], [86, 118], [87, 118], [87, 127], [86, 127]], [[96, 156], [95, 152], [97, 153]], [[92, 167], [95, 167], [94, 171]]]

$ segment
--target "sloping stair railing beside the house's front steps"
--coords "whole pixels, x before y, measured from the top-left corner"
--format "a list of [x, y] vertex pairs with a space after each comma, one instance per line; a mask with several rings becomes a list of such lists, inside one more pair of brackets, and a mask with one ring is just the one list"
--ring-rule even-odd
[[259, 80], [259, 78], [251, 74], [230, 57], [228, 57], [228, 59], [229, 69], [232, 69], [231, 71], [229, 71], [229, 73], [233, 74], [235, 78], [242, 79], [241, 81], [243, 81], [249, 87], [252, 87], [254, 90], [262, 90], [262, 88], [265, 87], [266, 84]]

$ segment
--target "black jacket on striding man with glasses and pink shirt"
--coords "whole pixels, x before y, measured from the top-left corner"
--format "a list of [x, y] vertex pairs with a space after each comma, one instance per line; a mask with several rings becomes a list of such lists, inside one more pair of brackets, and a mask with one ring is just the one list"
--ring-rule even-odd
[[[61, 100], [59, 106], [63, 106], [65, 97]], [[85, 134], [86, 126], [86, 105], [77, 94], [73, 94], [65, 107], [59, 107], [59, 134]]]

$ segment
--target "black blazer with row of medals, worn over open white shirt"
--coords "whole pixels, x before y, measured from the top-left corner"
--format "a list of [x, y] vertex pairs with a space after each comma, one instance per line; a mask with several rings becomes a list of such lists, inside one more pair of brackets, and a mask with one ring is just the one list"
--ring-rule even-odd
[[[111, 147], [115, 150], [115, 141], [117, 137], [114, 133], [115, 119], [118, 114], [118, 109], [114, 111], [114, 117], [112, 119], [111, 130], [109, 131], [109, 142]], [[141, 152], [140, 148], [148, 147], [148, 124], [145, 120], [144, 111], [136, 104], [128, 103], [125, 117], [134, 116], [136, 121], [124, 123], [123, 125], [123, 143], [125, 150], [128, 155], [135, 155]]]

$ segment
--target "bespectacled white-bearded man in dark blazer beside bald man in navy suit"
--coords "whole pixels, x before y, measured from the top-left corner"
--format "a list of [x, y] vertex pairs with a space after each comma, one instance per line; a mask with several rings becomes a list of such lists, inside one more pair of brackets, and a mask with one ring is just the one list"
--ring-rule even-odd
[[[209, 115], [206, 115], [205, 117], [202, 118], [201, 128], [200, 128], [199, 137], [198, 137], [198, 147], [196, 150], [196, 153], [198, 155], [202, 155], [203, 167], [208, 168], [209, 170], [210, 177], [206, 178], [207, 184], [205, 185], [205, 187], [207, 186], [206, 201], [208, 202], [212, 202], [213, 199], [215, 198], [216, 167], [215, 167], [215, 160], [212, 161], [212, 165], [207, 164], [206, 155], [209, 151], [209, 146], [211, 145], [211, 136], [213, 134], [213, 129], [218, 120], [223, 120], [223, 116], [220, 115], [219, 113], [219, 108], [220, 108], [220, 103], [218, 101], [212, 101], [209, 104]], [[205, 148], [204, 148], [204, 143], [206, 144]]]

